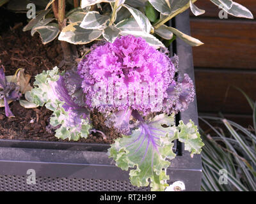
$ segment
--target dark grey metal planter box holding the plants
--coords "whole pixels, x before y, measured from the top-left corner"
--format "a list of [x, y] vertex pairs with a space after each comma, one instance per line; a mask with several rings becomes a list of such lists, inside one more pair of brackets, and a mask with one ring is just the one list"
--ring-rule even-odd
[[[172, 22], [180, 31], [190, 34], [188, 11]], [[180, 73], [194, 80], [193, 56], [189, 45], [179, 39], [172, 48], [179, 55]], [[196, 100], [177, 120], [198, 124]], [[109, 145], [77, 142], [33, 142], [0, 140], [0, 191], [148, 191], [134, 187], [128, 171], [122, 171], [109, 159]], [[184, 182], [186, 191], [200, 191], [202, 164], [200, 155], [193, 159], [176, 144], [177, 157], [167, 173], [170, 183]], [[36, 184], [27, 184], [27, 170], [36, 172]]]

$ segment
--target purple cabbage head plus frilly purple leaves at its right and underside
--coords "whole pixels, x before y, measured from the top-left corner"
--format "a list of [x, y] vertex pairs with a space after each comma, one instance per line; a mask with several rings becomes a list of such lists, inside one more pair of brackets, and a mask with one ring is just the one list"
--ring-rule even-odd
[[186, 74], [175, 78], [177, 65], [177, 55], [168, 57], [143, 38], [129, 35], [92, 47], [77, 71], [83, 79], [86, 106], [98, 108], [106, 114], [107, 125], [112, 124], [124, 133], [127, 129], [122, 126], [129, 124], [131, 110], [146, 116], [188, 108], [195, 97], [194, 85]]

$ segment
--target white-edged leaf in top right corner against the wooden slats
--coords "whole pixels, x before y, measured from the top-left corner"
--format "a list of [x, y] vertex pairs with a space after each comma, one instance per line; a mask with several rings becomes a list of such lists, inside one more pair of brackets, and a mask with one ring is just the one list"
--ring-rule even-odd
[[227, 9], [225, 6], [221, 6], [222, 4], [218, 0], [210, 0], [210, 1], [216, 4], [216, 6], [219, 6], [220, 8], [222, 8], [224, 11], [226, 11], [230, 15], [234, 15], [235, 17], [253, 19], [252, 12], [239, 3], [233, 2], [232, 7], [230, 9]]

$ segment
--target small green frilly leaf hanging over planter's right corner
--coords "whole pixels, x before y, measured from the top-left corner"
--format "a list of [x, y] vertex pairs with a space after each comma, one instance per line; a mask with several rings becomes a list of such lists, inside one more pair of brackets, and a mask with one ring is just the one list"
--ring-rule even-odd
[[197, 126], [192, 120], [189, 120], [188, 124], [184, 124], [182, 120], [179, 123], [177, 136], [179, 141], [185, 144], [185, 150], [191, 152], [191, 157], [193, 157], [193, 154], [200, 154], [204, 143], [200, 138]]

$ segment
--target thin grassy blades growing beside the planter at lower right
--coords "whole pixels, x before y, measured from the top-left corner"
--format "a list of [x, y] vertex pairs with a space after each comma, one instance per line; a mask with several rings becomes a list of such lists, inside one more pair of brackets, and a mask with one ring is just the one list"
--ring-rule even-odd
[[[246, 94], [243, 92], [246, 96]], [[248, 96], [248, 101], [252, 102]], [[255, 118], [255, 107], [252, 107]], [[205, 147], [202, 150], [202, 191], [256, 191], [256, 128], [243, 128], [236, 122], [218, 117], [200, 117], [211, 130], [201, 130]], [[216, 128], [218, 122], [220, 126]], [[224, 128], [222, 128], [224, 127]], [[254, 134], [253, 134], [254, 132]], [[227, 184], [220, 184], [220, 170], [227, 170]]]

